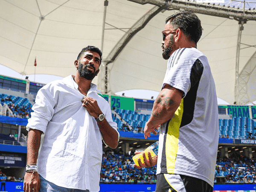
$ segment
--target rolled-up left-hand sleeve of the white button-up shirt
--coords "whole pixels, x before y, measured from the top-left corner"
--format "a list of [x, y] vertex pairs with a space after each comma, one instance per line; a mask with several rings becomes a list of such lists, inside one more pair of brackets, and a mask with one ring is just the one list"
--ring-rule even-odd
[[41, 88], [36, 96], [35, 104], [32, 107], [34, 112], [31, 113], [31, 118], [28, 119], [26, 130], [37, 129], [45, 133], [48, 122], [54, 114], [56, 101], [53, 95], [47, 88]]

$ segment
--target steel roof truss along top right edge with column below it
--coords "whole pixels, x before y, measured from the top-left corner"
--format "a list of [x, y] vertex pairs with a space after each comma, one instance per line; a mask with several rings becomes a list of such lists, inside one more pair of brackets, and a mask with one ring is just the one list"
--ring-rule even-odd
[[[153, 5], [161, 6], [164, 3], [169, 2], [168, 0], [130, 0], [140, 4], [150, 3]], [[239, 3], [239, 5], [238, 5]], [[245, 3], [248, 5], [248, 9], [245, 9]], [[237, 105], [247, 105], [250, 103], [250, 98], [247, 92], [247, 83], [250, 77], [250, 74], [255, 69], [256, 64], [252, 62], [252, 58], [248, 61], [244, 69], [239, 74], [239, 57], [240, 57], [240, 45], [241, 45], [241, 33], [244, 29], [243, 24], [247, 22], [247, 20], [256, 20], [256, 11], [255, 7], [250, 7], [248, 3], [255, 2], [245, 2], [239, 0], [230, 0], [228, 3], [222, 3], [221, 5], [218, 3], [197, 3], [194, 0], [172, 0], [169, 3], [169, 6], [166, 7], [167, 10], [186, 10], [190, 9], [195, 13], [200, 13], [204, 15], [213, 15], [217, 17], [225, 17], [230, 19], [235, 19], [239, 21], [239, 32], [238, 32], [238, 40], [237, 40], [237, 49], [236, 49], [236, 81], [235, 81], [235, 103]], [[237, 6], [238, 5], [238, 6]], [[240, 9], [240, 5], [243, 5], [242, 9]], [[236, 7], [237, 6], [237, 7]], [[255, 45], [248, 47], [255, 47]], [[248, 48], [244, 47], [244, 48]], [[243, 49], [244, 49], [243, 48]], [[253, 55], [256, 57], [256, 53]]]

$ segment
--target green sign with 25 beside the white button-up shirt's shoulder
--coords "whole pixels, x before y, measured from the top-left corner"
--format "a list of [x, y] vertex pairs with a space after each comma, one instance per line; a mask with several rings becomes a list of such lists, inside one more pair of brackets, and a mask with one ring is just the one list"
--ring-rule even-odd
[[111, 96], [111, 110], [116, 109], [126, 109], [134, 111], [134, 99], [127, 97]]

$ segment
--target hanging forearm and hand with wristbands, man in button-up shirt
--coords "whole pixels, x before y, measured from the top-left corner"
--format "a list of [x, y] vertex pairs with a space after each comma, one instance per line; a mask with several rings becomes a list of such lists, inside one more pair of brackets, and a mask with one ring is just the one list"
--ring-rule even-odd
[[[27, 164], [37, 163], [42, 131], [30, 129], [27, 141]], [[40, 179], [38, 172], [29, 172], [24, 176], [24, 192], [38, 192]]]

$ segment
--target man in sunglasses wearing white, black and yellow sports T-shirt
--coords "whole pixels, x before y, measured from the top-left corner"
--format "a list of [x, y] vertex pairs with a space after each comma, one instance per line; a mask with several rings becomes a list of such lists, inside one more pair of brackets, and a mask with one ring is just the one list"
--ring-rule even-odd
[[[206, 56], [197, 42], [201, 21], [191, 11], [166, 19], [163, 58], [168, 60], [162, 90], [154, 101], [144, 136], [159, 131], [156, 192], [212, 192], [218, 151], [218, 105]], [[150, 156], [150, 155], [149, 155]], [[140, 167], [134, 166], [137, 169]]]

